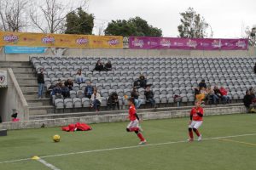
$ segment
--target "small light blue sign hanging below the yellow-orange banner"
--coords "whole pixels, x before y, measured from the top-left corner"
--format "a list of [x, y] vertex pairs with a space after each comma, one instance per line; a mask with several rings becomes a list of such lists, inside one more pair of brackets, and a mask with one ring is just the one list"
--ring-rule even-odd
[[4, 46], [5, 54], [43, 54], [47, 48], [23, 47], [23, 46]]

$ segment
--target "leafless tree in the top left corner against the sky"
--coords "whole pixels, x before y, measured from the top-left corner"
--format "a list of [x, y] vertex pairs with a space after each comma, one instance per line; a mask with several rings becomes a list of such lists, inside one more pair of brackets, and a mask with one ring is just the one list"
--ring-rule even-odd
[[0, 30], [21, 31], [26, 26], [26, 0], [0, 1]]

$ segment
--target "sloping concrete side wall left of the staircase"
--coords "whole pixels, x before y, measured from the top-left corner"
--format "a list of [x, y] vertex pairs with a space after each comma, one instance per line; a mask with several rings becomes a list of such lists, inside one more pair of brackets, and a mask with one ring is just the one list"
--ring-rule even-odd
[[[4, 69], [1, 69], [4, 70]], [[3, 122], [10, 122], [13, 109], [19, 112], [18, 118], [22, 121], [28, 120], [28, 105], [26, 99], [23, 96], [20, 86], [15, 78], [14, 72], [12, 69], [7, 69], [7, 80], [8, 88], [1, 89], [1, 103], [3, 108], [1, 108], [1, 115]]]

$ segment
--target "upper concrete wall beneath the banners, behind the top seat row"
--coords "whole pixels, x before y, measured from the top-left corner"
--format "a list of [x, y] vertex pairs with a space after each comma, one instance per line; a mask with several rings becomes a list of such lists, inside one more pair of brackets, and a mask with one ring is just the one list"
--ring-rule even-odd
[[[33, 54], [32, 54], [33, 55]], [[40, 54], [35, 54], [40, 55]], [[44, 55], [53, 55], [51, 48], [48, 48]], [[202, 51], [202, 50], [177, 50], [177, 49], [88, 49], [88, 48], [69, 48], [65, 55], [71, 56], [256, 56], [256, 48], [249, 50], [236, 51]], [[0, 48], [0, 61], [28, 61], [29, 54], [4, 54], [4, 49]]]

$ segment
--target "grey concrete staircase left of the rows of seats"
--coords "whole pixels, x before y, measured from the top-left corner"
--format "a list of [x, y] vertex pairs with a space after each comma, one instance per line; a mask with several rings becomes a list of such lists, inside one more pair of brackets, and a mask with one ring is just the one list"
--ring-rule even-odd
[[54, 113], [54, 106], [49, 105], [49, 98], [38, 99], [37, 75], [30, 62], [0, 62], [1, 68], [12, 68], [21, 91], [29, 106], [29, 116]]

